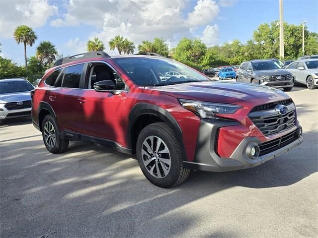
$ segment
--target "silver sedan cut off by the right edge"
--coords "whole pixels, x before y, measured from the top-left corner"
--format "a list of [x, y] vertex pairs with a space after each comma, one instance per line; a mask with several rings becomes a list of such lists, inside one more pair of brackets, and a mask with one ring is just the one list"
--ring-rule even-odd
[[318, 86], [318, 59], [297, 60], [285, 69], [292, 73], [294, 83], [305, 84], [309, 89]]

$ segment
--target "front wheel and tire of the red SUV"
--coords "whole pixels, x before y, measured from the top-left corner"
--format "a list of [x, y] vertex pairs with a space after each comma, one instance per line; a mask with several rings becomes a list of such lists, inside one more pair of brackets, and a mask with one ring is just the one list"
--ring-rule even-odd
[[142, 129], [136, 154], [145, 177], [159, 187], [176, 186], [190, 174], [190, 169], [183, 167], [180, 144], [166, 123], [157, 122]]

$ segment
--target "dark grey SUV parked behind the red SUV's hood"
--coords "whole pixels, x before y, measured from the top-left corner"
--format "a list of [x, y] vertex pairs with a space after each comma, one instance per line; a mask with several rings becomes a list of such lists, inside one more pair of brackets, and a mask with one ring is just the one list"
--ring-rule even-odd
[[292, 74], [280, 68], [273, 60], [250, 60], [241, 63], [237, 82], [284, 88], [285, 91], [292, 90], [294, 86]]

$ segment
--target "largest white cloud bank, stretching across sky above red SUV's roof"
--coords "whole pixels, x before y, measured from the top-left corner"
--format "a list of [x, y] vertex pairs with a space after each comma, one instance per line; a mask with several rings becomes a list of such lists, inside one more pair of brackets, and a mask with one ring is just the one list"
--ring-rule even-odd
[[89, 38], [100, 38], [109, 54], [118, 54], [108, 49], [108, 41], [115, 35], [129, 38], [136, 46], [154, 37], [162, 37], [175, 46], [181, 37], [193, 38], [198, 27], [211, 24], [219, 14], [214, 0], [198, 0], [184, 16], [182, 11], [188, 3], [187, 0], [69, 0], [67, 12], [50, 24], [94, 26], [96, 30]]

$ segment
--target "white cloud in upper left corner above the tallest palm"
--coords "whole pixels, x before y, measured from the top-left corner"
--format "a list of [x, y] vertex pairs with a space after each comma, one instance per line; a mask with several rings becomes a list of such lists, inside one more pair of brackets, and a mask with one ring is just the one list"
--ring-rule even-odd
[[21, 24], [40, 27], [58, 12], [47, 0], [0, 0], [0, 36], [11, 38]]

